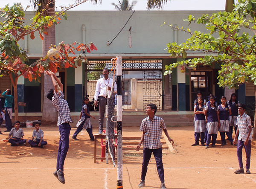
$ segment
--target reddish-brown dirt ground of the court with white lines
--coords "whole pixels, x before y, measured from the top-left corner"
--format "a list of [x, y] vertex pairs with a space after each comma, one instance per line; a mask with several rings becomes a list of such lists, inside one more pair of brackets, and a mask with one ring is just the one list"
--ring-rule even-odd
[[[23, 128], [25, 138], [31, 139], [34, 128]], [[48, 142], [44, 149], [26, 146], [11, 147], [9, 142], [0, 141], [0, 188], [26, 189], [115, 189], [117, 178], [113, 164], [97, 160], [93, 163], [94, 142], [83, 130], [72, 140], [76, 128], [71, 129], [70, 149], [64, 164], [65, 184], [61, 184], [52, 174], [55, 171], [58, 152], [58, 128], [44, 128], [44, 139]], [[175, 152], [163, 150], [165, 183], [169, 189], [253, 189], [256, 184], [256, 145], [252, 142], [252, 174], [234, 174], [239, 167], [236, 146], [221, 147], [218, 134], [216, 148], [191, 146], [194, 143], [193, 127], [169, 127], [170, 136], [175, 141]], [[1, 129], [4, 131], [4, 128]], [[94, 133], [97, 129], [94, 127]], [[139, 127], [123, 128], [123, 136], [141, 136]], [[5, 139], [8, 133], [0, 135]], [[98, 141], [98, 154], [100, 145]], [[142, 148], [140, 150], [143, 150]], [[18, 155], [23, 153], [23, 155]], [[243, 151], [245, 165], [245, 152]], [[123, 157], [123, 188], [137, 189], [140, 182], [142, 154]], [[148, 165], [145, 189], [160, 188], [154, 157]]]

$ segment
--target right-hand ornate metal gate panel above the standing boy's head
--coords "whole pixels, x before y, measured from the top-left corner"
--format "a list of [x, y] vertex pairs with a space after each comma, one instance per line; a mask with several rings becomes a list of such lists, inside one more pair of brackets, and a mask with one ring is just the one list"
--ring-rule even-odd
[[153, 103], [162, 110], [162, 71], [143, 71], [143, 106]]

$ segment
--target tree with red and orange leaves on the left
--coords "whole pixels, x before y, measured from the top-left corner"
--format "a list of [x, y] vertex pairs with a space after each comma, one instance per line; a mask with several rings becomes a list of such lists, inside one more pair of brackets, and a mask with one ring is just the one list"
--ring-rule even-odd
[[[34, 33], [39, 32], [40, 38], [44, 40], [42, 33], [47, 35], [45, 29], [57, 24], [61, 20], [61, 16], [67, 19], [65, 11], [69, 8], [63, 9], [61, 12], [56, 12], [53, 16], [45, 17], [44, 14], [37, 13], [32, 18], [32, 22], [28, 25], [24, 24], [25, 15], [24, 12], [20, 10], [20, 6], [8, 5], [3, 8], [1, 17], [4, 17], [3, 22], [0, 22], [0, 76], [10, 76], [12, 85], [14, 87], [14, 97], [15, 97], [15, 120], [18, 117], [18, 105], [17, 105], [17, 81], [20, 76], [28, 78], [29, 81], [35, 79], [40, 81], [41, 74], [44, 70], [57, 71], [57, 67], [75, 67], [74, 63], [81, 65], [81, 62], [87, 62], [86, 58], [82, 58], [81, 55], [78, 57], [69, 57], [68, 53], [77, 50], [89, 49], [87, 44], [81, 44], [75, 47], [75, 43], [68, 45], [61, 43], [58, 50], [61, 55], [60, 60], [50, 61], [45, 58], [41, 58], [40, 61], [29, 65], [29, 58], [23, 49], [20, 49], [17, 44], [18, 41], [24, 39], [24, 36], [29, 35], [31, 39], [35, 38]], [[44, 11], [42, 12], [44, 13]], [[91, 49], [96, 49], [93, 44], [90, 44]], [[61, 60], [62, 59], [62, 60]], [[67, 60], [65, 60], [67, 59]]]

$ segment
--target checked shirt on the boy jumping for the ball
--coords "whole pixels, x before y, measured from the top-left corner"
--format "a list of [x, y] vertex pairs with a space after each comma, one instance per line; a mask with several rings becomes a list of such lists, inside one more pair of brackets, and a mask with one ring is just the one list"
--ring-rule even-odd
[[[60, 94], [60, 96], [58, 95]], [[70, 109], [67, 104], [67, 101], [64, 100], [64, 93], [60, 90], [58, 93], [54, 91], [54, 95], [52, 96], [52, 104], [56, 107], [59, 115], [58, 115], [58, 126], [62, 123], [72, 123], [70, 118]]]

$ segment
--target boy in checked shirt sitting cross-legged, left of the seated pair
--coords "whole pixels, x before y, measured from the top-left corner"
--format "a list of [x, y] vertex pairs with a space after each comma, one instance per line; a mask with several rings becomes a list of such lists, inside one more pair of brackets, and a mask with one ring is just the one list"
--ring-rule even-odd
[[12, 128], [9, 133], [9, 141], [11, 146], [14, 145], [26, 145], [26, 139], [24, 139], [24, 132], [20, 128], [20, 121], [14, 122], [15, 128]]

